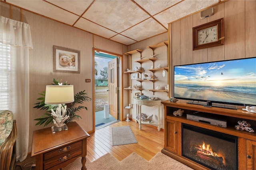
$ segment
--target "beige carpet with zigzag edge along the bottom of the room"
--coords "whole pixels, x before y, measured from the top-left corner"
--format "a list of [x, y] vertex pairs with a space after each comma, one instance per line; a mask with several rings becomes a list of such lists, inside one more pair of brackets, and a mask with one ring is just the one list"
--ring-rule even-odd
[[[81, 167], [81, 158], [78, 158], [63, 170], [80, 170]], [[161, 152], [158, 152], [150, 161], [145, 160], [136, 153], [132, 153], [124, 160], [118, 161], [108, 153], [93, 162], [87, 159], [86, 168], [87, 170], [193, 170]]]

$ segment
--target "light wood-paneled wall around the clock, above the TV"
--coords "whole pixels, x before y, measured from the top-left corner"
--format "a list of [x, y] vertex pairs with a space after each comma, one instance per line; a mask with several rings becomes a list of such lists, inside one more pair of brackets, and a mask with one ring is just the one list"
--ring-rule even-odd
[[[200, 19], [198, 12], [169, 24], [171, 70], [175, 65], [256, 56], [256, 1], [229, 0], [213, 8], [214, 15], [208, 18]], [[193, 51], [192, 28], [220, 18], [224, 18], [224, 45]]]

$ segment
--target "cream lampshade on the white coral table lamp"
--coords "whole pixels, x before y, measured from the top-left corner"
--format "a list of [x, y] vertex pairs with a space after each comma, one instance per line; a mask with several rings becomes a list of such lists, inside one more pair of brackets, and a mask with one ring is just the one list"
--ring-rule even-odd
[[45, 104], [64, 104], [74, 102], [73, 85], [47, 85], [45, 90]]

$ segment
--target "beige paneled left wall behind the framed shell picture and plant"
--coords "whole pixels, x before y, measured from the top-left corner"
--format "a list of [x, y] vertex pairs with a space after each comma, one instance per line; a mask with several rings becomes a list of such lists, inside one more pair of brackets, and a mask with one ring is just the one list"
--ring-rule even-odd
[[[33, 108], [40, 97], [38, 93], [45, 91], [46, 85], [52, 83], [53, 78], [58, 78], [62, 82], [74, 85], [74, 93], [86, 90], [93, 98], [94, 82], [86, 83], [85, 79], [93, 80], [94, 59], [92, 48], [98, 48], [115, 54], [122, 54], [127, 50], [127, 46], [107, 40], [100, 36], [95, 36], [88, 32], [76, 29], [72, 26], [50, 20], [43, 16], [10, 6], [5, 2], [0, 2], [1, 16], [14, 20], [26, 22], [30, 25], [33, 50], [30, 50], [30, 136], [29, 147], [32, 143], [32, 133], [34, 130], [44, 128], [35, 126], [45, 110]], [[53, 45], [80, 50], [80, 74], [53, 72]], [[125, 66], [126, 67], [126, 66]], [[88, 110], [81, 110], [78, 124], [87, 132], [93, 130], [93, 101], [85, 102], [84, 106]], [[18, 121], [17, 121], [18, 125]], [[49, 125], [50, 126], [50, 125]], [[49, 127], [46, 126], [46, 127]], [[21, 128], [21, 127], [20, 127]], [[31, 150], [31, 148], [28, 148]]]

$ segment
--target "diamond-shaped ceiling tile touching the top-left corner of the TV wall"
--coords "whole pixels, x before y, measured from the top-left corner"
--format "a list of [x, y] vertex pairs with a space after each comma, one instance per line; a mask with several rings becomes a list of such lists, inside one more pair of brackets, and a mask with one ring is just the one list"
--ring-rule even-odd
[[154, 19], [149, 18], [148, 20], [145, 20], [144, 22], [141, 22], [140, 24], [122, 32], [121, 34], [136, 41], [140, 41], [167, 31], [168, 30], [162, 27]]

